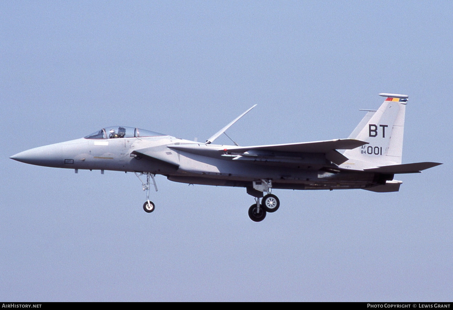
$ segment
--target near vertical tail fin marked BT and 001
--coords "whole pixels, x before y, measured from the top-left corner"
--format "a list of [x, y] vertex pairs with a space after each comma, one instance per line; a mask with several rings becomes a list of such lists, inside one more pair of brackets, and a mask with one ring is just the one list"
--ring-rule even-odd
[[387, 93], [379, 95], [386, 97], [381, 107], [377, 111], [366, 110], [368, 112], [365, 117], [349, 136], [369, 144], [343, 153], [350, 163], [356, 161], [362, 168], [401, 164], [408, 96]]

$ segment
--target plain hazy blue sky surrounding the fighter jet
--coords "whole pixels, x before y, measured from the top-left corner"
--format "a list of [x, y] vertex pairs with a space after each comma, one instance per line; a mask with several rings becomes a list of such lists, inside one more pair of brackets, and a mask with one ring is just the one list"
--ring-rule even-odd
[[[1, 1], [0, 300], [451, 301], [452, 1]], [[400, 192], [243, 188], [8, 157], [135, 126], [240, 145], [346, 138], [409, 95]], [[216, 140], [231, 144], [226, 137]]]

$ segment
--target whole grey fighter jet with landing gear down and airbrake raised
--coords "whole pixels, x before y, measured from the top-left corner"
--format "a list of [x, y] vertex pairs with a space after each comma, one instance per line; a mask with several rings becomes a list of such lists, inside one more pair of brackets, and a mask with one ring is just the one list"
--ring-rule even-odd
[[[244, 187], [255, 197], [249, 216], [262, 221], [280, 201], [272, 189], [366, 189], [396, 192], [395, 174], [417, 173], [440, 163], [401, 164], [407, 95], [382, 93], [378, 110], [365, 117], [347, 139], [276, 145], [212, 144], [253, 107], [207, 139], [205, 143], [126, 126], [106, 127], [84, 138], [37, 147], [11, 156], [27, 164], [47, 167], [134, 172], [149, 200], [154, 176], [170, 181]], [[151, 180], [152, 179], [152, 183]], [[263, 193], [266, 193], [264, 195]], [[263, 197], [264, 196], [264, 197]]]

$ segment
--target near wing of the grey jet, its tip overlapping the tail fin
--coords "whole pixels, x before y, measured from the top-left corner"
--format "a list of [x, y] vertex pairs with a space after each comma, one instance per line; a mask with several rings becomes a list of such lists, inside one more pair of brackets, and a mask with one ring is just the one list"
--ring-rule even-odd
[[356, 139], [336, 139], [303, 143], [238, 146], [228, 148], [228, 152], [246, 152], [248, 150], [266, 150], [271, 152], [328, 153], [331, 150], [352, 150], [368, 142]]

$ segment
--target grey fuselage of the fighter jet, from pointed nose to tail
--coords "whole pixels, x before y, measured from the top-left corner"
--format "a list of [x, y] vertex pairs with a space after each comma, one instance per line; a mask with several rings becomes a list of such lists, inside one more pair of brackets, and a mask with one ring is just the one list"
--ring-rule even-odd
[[[199, 148], [188, 153], [171, 147], [193, 145]], [[295, 164], [274, 163], [269, 160], [239, 162], [223, 157], [206, 156], [203, 149], [229, 149], [231, 145], [205, 145], [173, 136], [86, 139], [37, 147], [11, 158], [24, 163], [75, 170], [116, 170], [162, 174], [171, 181], [188, 184], [248, 187], [254, 180], [271, 179], [276, 189], [351, 189], [366, 188], [387, 179], [376, 173], [335, 170], [324, 154], [300, 154]], [[147, 149], [147, 155], [136, 155], [135, 150]], [[275, 157], [275, 153], [274, 153]], [[278, 156], [277, 157], [284, 157]], [[332, 170], [319, 170], [332, 166]]]

